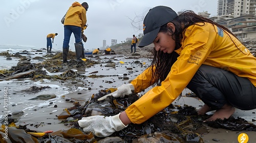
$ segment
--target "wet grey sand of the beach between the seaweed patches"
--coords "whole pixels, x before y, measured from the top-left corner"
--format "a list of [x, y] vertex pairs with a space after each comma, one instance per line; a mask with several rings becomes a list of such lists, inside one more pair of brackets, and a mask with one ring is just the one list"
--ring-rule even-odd
[[[146, 58], [148, 51], [138, 49], [138, 55], [132, 55], [127, 50], [120, 50], [122, 52], [116, 52], [116, 55], [96, 55], [86, 57], [94, 61], [100, 62], [100, 64], [94, 64], [91, 67], [85, 69], [79, 69], [76, 67], [70, 67], [77, 74], [90, 76], [94, 73], [97, 78], [74, 78], [69, 80], [60, 79], [40, 79], [33, 80], [31, 78], [26, 79], [11, 79], [0, 81], [0, 106], [2, 106], [2, 112], [0, 118], [5, 120], [6, 114], [17, 113], [13, 118], [16, 120], [15, 124], [28, 125], [30, 130], [37, 131], [59, 131], [62, 129], [69, 129], [69, 125], [60, 124], [62, 119], [58, 119], [57, 116], [65, 108], [74, 106], [74, 102], [79, 102], [83, 105], [89, 100], [92, 94], [97, 93], [101, 89], [119, 87], [122, 84], [129, 83], [130, 80], [136, 78], [144, 69], [150, 66], [150, 61]], [[30, 52], [33, 53], [33, 52]], [[33, 53], [35, 54], [35, 53]], [[38, 53], [37, 53], [38, 54]], [[39, 55], [39, 54], [38, 54]], [[35, 55], [35, 56], [38, 56]], [[46, 55], [42, 52], [40, 56]], [[144, 56], [141, 56], [144, 55]], [[2, 61], [5, 61], [5, 56], [0, 56]], [[13, 58], [10, 65], [15, 66], [18, 62], [18, 58]], [[106, 67], [108, 61], [115, 63], [114, 67]], [[121, 62], [120, 62], [121, 61]], [[138, 61], [143, 64], [136, 64]], [[32, 60], [31, 63], [40, 63], [42, 61]], [[2, 65], [1, 63], [0, 65]], [[97, 71], [97, 72], [94, 72]], [[48, 71], [49, 72], [49, 71]], [[50, 75], [60, 75], [61, 72], [48, 73]], [[123, 76], [126, 75], [125, 79]], [[102, 76], [102, 77], [100, 77]], [[32, 86], [47, 87], [38, 92], [29, 92]], [[150, 87], [152, 88], [152, 87]], [[148, 89], [147, 89], [148, 90]], [[140, 94], [144, 94], [141, 92]], [[197, 109], [203, 105], [203, 102], [198, 98], [186, 97], [185, 94], [191, 92], [189, 89], [184, 89], [180, 100], [176, 100], [173, 104], [184, 104], [196, 107]], [[38, 98], [37, 100], [31, 100], [40, 95], [55, 94], [55, 98], [46, 99]], [[8, 101], [6, 100], [8, 99]], [[7, 105], [6, 105], [7, 104]], [[212, 114], [208, 112], [207, 114]], [[244, 118], [249, 123], [256, 125], [256, 110], [242, 111], [236, 109], [233, 116], [239, 116]], [[204, 142], [242, 142], [238, 140], [238, 136], [241, 133], [246, 133], [249, 137], [248, 142], [256, 142], [255, 131], [231, 131], [226, 129], [215, 129], [208, 127], [209, 133], [202, 134]]]

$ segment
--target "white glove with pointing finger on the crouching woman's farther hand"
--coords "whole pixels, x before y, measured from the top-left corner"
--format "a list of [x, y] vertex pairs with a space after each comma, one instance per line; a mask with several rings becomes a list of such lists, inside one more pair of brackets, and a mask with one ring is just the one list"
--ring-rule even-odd
[[123, 84], [120, 87], [117, 88], [117, 90], [113, 93], [107, 94], [102, 98], [99, 98], [98, 101], [106, 99], [108, 96], [113, 96], [114, 98], [123, 98], [124, 96], [129, 96], [132, 94], [132, 91], [134, 91], [134, 86], [133, 84]]

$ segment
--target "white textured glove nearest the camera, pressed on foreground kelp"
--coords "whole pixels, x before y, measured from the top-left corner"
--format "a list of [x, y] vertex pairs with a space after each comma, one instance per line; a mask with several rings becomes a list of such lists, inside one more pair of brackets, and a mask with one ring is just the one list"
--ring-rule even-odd
[[106, 137], [128, 126], [122, 123], [119, 115], [120, 113], [109, 117], [102, 115], [83, 117], [78, 124], [84, 132], [92, 132], [98, 137]]

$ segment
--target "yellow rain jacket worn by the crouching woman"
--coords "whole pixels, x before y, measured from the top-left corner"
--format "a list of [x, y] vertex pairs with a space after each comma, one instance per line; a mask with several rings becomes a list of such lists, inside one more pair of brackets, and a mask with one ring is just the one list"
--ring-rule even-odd
[[[126, 108], [132, 123], [141, 124], [171, 104], [202, 64], [229, 70], [239, 77], [248, 78], [256, 86], [256, 58], [231, 34], [210, 23], [193, 25], [186, 29], [181, 44], [181, 48], [175, 51], [180, 56], [161, 86], [152, 88]], [[151, 86], [150, 68], [131, 82], [135, 92]]]

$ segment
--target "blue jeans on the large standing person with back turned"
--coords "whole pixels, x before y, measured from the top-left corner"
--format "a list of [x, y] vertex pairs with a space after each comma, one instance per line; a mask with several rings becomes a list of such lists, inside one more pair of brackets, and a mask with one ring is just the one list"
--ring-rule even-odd
[[69, 48], [71, 34], [75, 36], [75, 42], [81, 42], [81, 28], [77, 26], [64, 26], [63, 49]]

